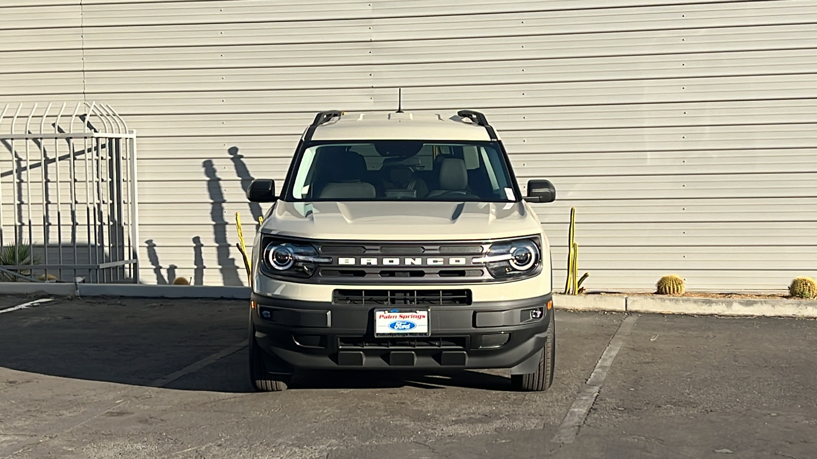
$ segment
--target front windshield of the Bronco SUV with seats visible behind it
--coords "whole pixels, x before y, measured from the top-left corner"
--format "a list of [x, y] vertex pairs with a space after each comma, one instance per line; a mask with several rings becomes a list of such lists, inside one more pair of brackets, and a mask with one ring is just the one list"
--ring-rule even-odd
[[295, 201], [516, 202], [496, 142], [341, 141], [310, 145], [295, 168]]

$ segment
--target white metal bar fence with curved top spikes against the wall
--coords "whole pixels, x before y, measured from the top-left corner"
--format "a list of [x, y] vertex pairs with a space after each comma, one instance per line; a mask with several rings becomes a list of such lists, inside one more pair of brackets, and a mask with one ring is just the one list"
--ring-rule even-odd
[[136, 132], [110, 105], [0, 105], [0, 281], [138, 282]]

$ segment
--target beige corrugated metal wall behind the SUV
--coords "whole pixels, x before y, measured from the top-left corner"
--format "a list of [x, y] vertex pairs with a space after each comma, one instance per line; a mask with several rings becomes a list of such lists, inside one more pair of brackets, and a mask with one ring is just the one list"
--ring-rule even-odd
[[520, 185], [556, 184], [536, 208], [557, 285], [572, 206], [592, 289], [817, 274], [815, 1], [2, 0], [0, 20], [0, 102], [105, 101], [138, 131], [145, 282], [246, 282], [242, 184], [282, 179], [315, 111], [395, 109], [397, 87], [483, 109]]

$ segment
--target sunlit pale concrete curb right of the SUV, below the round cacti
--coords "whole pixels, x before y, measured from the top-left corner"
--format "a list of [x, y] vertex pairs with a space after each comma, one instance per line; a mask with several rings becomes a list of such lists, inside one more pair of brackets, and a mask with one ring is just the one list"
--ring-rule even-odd
[[608, 310], [652, 314], [696, 314], [817, 318], [817, 301], [694, 296], [554, 295], [562, 310]]

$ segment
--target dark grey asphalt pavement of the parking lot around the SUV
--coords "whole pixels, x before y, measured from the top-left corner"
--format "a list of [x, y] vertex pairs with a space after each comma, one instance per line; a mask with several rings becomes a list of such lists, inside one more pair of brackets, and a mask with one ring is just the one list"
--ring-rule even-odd
[[546, 393], [502, 371], [309, 372], [255, 393], [247, 314], [136, 298], [0, 313], [0, 457], [817, 457], [813, 320], [557, 311]]

